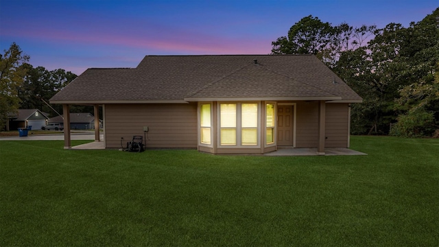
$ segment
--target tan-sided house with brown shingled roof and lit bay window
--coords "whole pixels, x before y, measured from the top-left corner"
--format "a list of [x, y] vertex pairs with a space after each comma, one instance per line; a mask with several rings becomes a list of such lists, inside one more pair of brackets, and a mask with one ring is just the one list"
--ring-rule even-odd
[[147, 134], [147, 148], [263, 154], [348, 148], [350, 106], [362, 99], [316, 56], [213, 55], [145, 56], [135, 69], [88, 69], [50, 102], [64, 112], [92, 104], [95, 115], [102, 106], [106, 148]]

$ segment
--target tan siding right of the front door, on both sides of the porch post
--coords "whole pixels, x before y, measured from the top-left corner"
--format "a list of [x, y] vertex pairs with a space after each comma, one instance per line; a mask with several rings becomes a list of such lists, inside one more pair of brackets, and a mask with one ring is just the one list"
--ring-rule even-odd
[[[318, 102], [297, 102], [296, 148], [318, 145]], [[348, 104], [326, 104], [325, 148], [348, 147]]]

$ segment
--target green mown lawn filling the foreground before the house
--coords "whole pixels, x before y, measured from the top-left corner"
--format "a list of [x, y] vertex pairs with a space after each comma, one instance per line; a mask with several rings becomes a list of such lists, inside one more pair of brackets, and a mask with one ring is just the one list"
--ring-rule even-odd
[[0, 246], [438, 246], [439, 139], [351, 143], [368, 156], [0, 141]]

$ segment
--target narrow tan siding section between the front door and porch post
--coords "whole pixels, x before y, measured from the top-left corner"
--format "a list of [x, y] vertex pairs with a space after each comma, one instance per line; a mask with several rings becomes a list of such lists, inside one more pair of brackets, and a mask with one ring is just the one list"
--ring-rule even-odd
[[318, 102], [297, 102], [296, 111], [296, 148], [316, 148]]

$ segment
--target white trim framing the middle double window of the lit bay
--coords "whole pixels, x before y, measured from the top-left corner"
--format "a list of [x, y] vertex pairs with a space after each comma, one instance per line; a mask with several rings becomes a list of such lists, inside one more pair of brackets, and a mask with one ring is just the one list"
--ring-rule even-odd
[[[236, 145], [221, 145], [221, 104], [236, 104]], [[257, 145], [242, 145], [241, 104], [258, 105]], [[265, 126], [265, 124], [264, 124]], [[217, 148], [261, 148], [261, 102], [217, 102]]]

